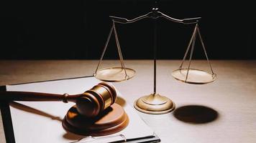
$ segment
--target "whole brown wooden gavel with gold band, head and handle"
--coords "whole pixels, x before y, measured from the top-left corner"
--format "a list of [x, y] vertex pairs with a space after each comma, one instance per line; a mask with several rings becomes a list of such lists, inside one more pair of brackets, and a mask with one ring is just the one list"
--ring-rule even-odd
[[47, 94], [40, 92], [0, 92], [0, 100], [6, 101], [63, 101], [75, 102], [78, 113], [85, 117], [96, 117], [116, 102], [116, 90], [101, 82], [83, 94]]

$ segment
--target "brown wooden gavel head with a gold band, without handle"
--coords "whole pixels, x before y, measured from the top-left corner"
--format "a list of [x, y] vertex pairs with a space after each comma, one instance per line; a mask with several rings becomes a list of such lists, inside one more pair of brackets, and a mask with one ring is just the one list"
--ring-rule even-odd
[[76, 100], [78, 113], [85, 117], [96, 117], [116, 102], [116, 90], [111, 84], [101, 82], [84, 92]]

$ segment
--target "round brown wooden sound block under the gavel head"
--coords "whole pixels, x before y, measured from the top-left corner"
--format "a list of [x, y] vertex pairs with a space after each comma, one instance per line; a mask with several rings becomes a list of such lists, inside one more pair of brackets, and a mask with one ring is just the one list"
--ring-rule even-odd
[[104, 136], [114, 134], [127, 127], [129, 118], [119, 104], [112, 104], [97, 117], [83, 117], [76, 105], [68, 110], [63, 119], [63, 128], [68, 132], [85, 136]]

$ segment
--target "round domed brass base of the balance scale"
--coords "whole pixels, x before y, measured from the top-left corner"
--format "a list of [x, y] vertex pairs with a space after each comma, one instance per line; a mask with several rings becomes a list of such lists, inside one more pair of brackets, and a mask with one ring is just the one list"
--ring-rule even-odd
[[175, 109], [175, 104], [160, 94], [150, 94], [137, 99], [134, 102], [134, 107], [146, 114], [166, 114]]

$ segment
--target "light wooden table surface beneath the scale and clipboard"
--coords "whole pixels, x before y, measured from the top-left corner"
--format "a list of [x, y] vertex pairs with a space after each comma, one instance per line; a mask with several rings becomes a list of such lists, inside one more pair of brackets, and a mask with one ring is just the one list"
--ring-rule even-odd
[[[97, 64], [93, 60], [0, 61], [0, 85], [90, 76]], [[176, 109], [168, 114], [138, 114], [162, 142], [256, 142], [256, 61], [213, 60], [211, 64], [216, 81], [194, 85], [171, 77], [180, 61], [157, 61], [157, 93], [172, 99]], [[102, 67], [116, 65], [118, 61], [102, 63]], [[114, 85], [133, 104], [153, 92], [153, 61], [127, 60], [125, 66], [136, 70], [136, 76]], [[195, 60], [192, 67], [209, 70], [206, 61]], [[5, 142], [2, 124], [0, 142]]]

